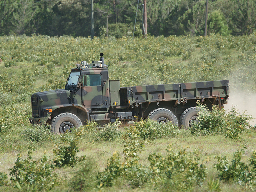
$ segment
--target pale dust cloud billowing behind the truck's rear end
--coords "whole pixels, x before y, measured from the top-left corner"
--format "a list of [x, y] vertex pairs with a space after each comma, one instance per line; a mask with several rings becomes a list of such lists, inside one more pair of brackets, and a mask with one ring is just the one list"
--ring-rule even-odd
[[242, 111], [247, 111], [254, 119], [250, 122], [251, 126], [256, 124], [256, 94], [251, 94], [245, 91], [230, 90], [228, 104], [224, 105], [225, 111], [228, 112], [232, 106], [238, 109], [241, 114]]

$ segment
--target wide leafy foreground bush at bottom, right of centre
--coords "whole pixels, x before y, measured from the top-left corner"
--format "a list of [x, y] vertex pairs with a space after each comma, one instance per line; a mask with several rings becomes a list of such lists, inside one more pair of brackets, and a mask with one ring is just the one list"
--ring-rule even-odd
[[149, 155], [152, 182], [163, 182], [163, 190], [189, 191], [205, 180], [205, 166], [199, 163], [199, 152], [187, 152], [186, 148], [175, 152], [167, 149], [168, 155]]

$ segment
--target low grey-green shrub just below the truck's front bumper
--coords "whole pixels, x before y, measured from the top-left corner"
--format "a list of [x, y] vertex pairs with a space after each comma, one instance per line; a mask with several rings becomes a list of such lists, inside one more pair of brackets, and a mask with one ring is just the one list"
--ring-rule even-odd
[[41, 142], [49, 137], [49, 127], [34, 126], [32, 128], [25, 128], [21, 134], [28, 142]]

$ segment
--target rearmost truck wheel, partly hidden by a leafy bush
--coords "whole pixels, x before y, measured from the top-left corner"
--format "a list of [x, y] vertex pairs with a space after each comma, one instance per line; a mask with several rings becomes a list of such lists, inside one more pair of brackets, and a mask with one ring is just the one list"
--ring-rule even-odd
[[180, 126], [184, 129], [188, 129], [191, 127], [193, 122], [199, 122], [199, 120], [197, 120], [198, 112], [197, 107], [186, 109], [180, 116]]

